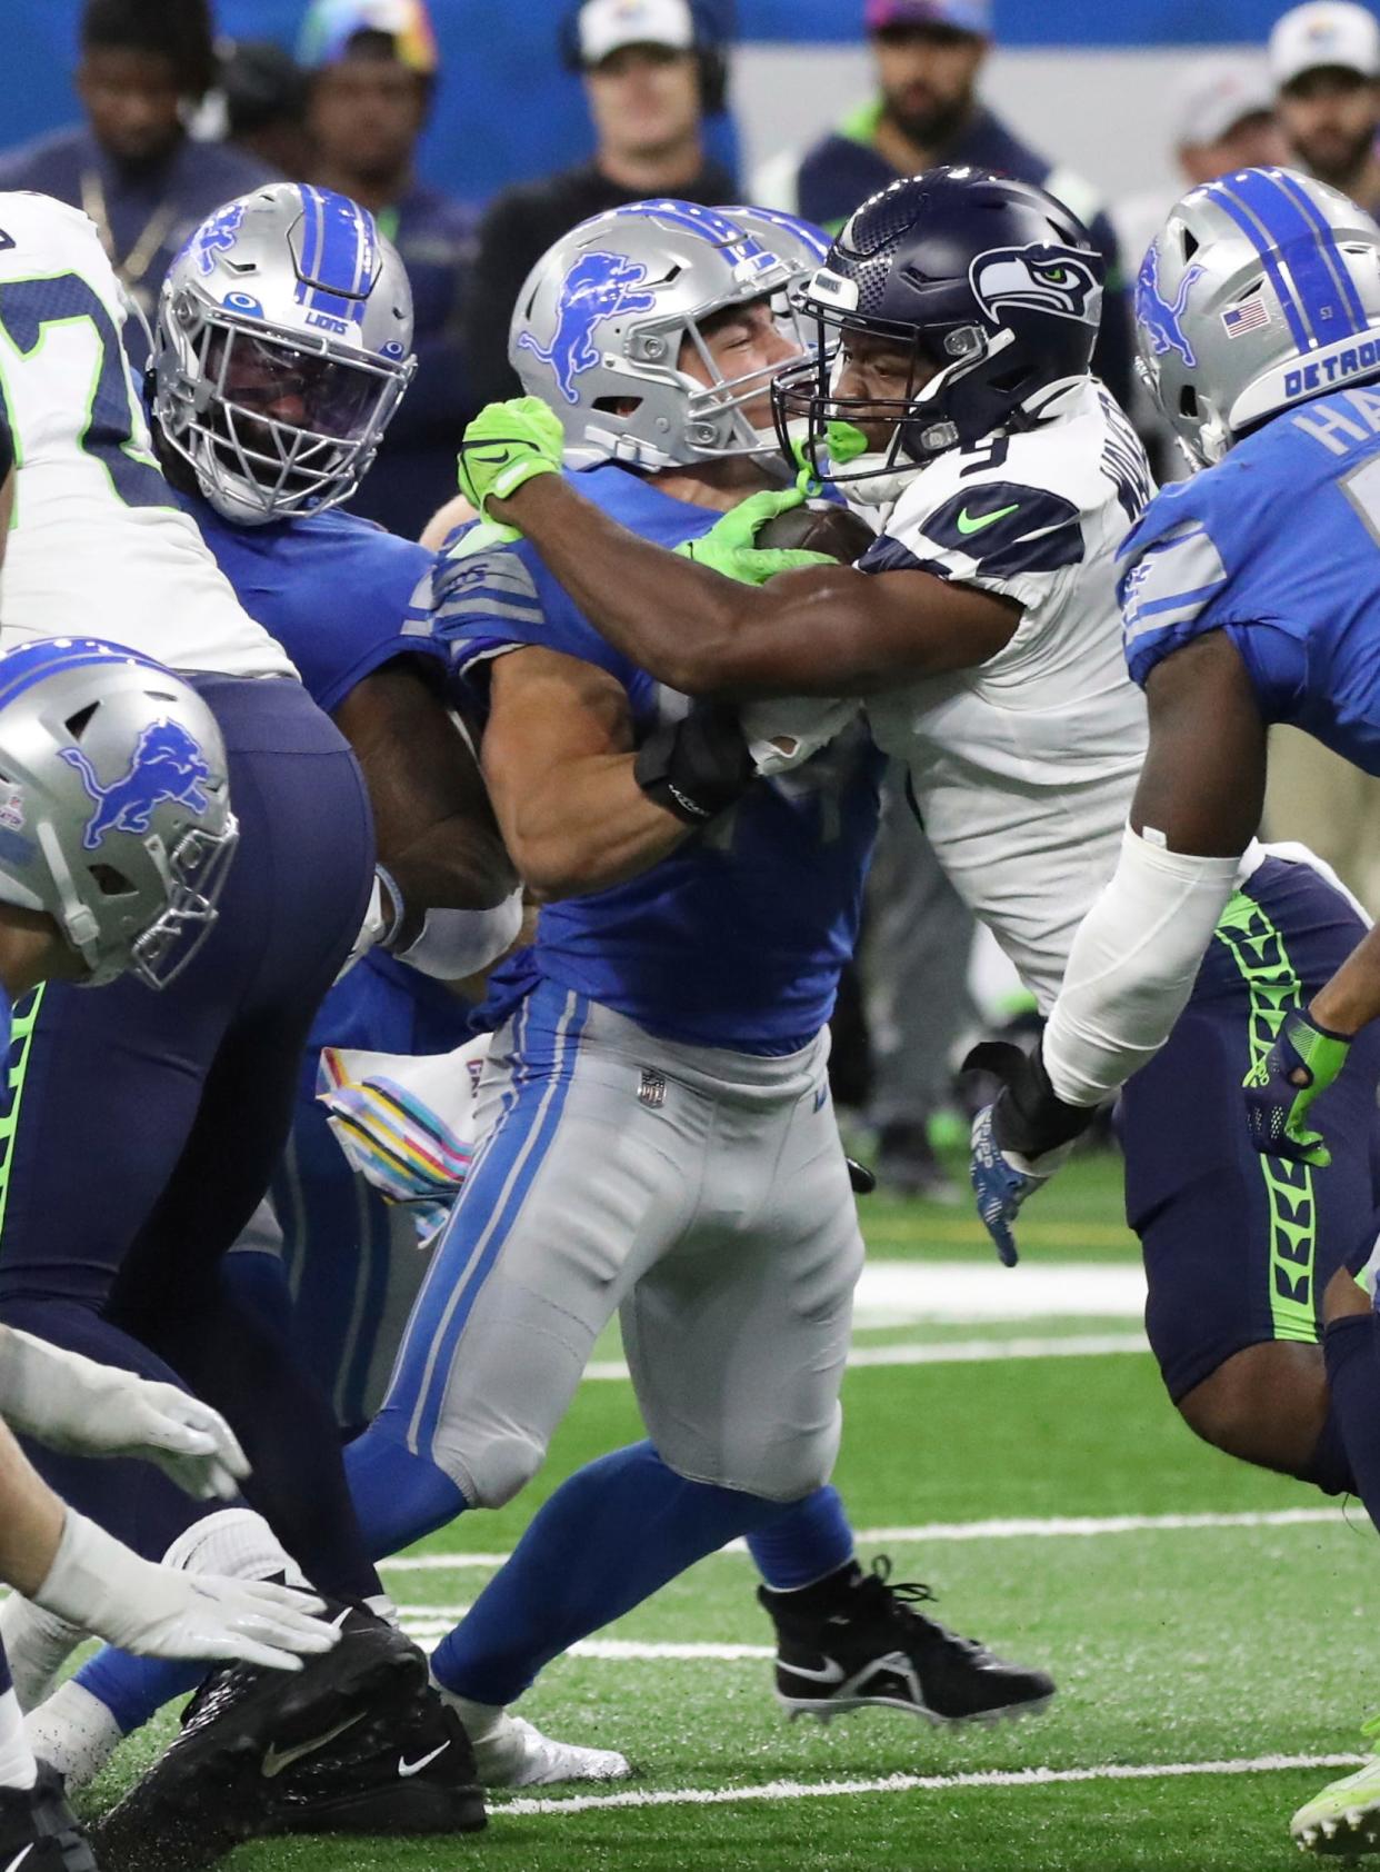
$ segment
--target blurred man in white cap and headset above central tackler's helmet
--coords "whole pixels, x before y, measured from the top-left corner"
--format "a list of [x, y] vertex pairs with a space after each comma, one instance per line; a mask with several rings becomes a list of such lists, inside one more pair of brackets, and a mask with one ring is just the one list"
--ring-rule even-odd
[[724, 52], [692, 0], [585, 0], [568, 21], [567, 56], [583, 73], [595, 155], [505, 189], [484, 215], [466, 326], [479, 402], [518, 395], [509, 320], [527, 273], [563, 234], [649, 195], [716, 206], [739, 193], [705, 155], [703, 118], [722, 103]]

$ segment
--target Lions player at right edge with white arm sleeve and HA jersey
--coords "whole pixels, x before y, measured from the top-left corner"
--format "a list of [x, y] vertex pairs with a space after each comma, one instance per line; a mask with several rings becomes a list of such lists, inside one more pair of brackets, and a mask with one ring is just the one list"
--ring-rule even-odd
[[[1273, 168], [1186, 195], [1146, 255], [1141, 358], [1202, 472], [1163, 489], [1122, 552], [1126, 659], [1150, 743], [1122, 859], [1073, 943], [1036, 1073], [997, 1106], [1015, 1153], [1038, 1153], [1051, 1127], [1133, 1073], [1163, 1073], [1159, 1048], [1260, 818], [1270, 723], [1380, 773], [1378, 262], [1367, 213]], [[1277, 1000], [1279, 970], [1268, 983], [1245, 1118], [1257, 1149], [1285, 1164], [1300, 1215], [1337, 1174], [1348, 1097], [1374, 1097], [1374, 1028], [1358, 1035], [1380, 1011], [1378, 960], [1367, 936], [1305, 1005]], [[1008, 1206], [1025, 1192], [1012, 1174]], [[1352, 1269], [1373, 1239], [1361, 1217]], [[1346, 1265], [1324, 1318], [1346, 1455], [1376, 1520], [1380, 1320]], [[1294, 1836], [1380, 1850], [1380, 1760], [1300, 1808]]]

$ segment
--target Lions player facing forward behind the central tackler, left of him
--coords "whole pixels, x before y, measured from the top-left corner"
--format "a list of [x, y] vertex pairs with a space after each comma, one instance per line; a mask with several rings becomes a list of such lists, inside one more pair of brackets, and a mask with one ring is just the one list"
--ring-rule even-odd
[[[327, 1043], [385, 1052], [456, 1046], [467, 1011], [445, 983], [507, 947], [520, 900], [475, 758], [441, 696], [443, 651], [426, 608], [432, 554], [335, 511], [368, 466], [387, 417], [363, 449], [323, 446], [322, 431], [338, 427], [327, 425], [327, 406], [359, 397], [359, 384], [314, 358], [320, 313], [303, 301], [294, 266], [294, 236], [312, 197], [327, 213], [340, 200], [282, 183], [226, 204], [193, 234], [161, 301], [151, 402], [155, 451], [183, 509], [249, 616], [290, 653], [350, 739], [374, 809], [376, 895], [393, 927], [316, 1016], [294, 1134], [275, 1177], [301, 1282], [294, 1337], [357, 1425], [359, 1367], [374, 1353], [393, 1264], [402, 1260], [411, 1277], [419, 1256], [415, 1241], [406, 1258], [398, 1254], [385, 1206], [340, 1159], [314, 1103], [316, 1054]], [[408, 328], [400, 331], [406, 352]], [[303, 461], [310, 474], [294, 466]], [[370, 919], [370, 936], [378, 923]], [[290, 1310], [279, 1260], [234, 1254], [226, 1279], [275, 1324]], [[368, 1327], [352, 1335], [355, 1314], [367, 1314]], [[64, 1636], [71, 1632], [56, 1642]], [[52, 1647], [43, 1662], [52, 1666]], [[176, 1672], [105, 1653], [30, 1717], [30, 1733], [69, 1786], [84, 1786], [122, 1735], [187, 1687]], [[567, 1767], [572, 1762], [578, 1750]], [[191, 1762], [193, 1782], [194, 1771]], [[163, 1778], [166, 1808], [176, 1790], [166, 1786], [170, 1771]], [[200, 1799], [194, 1786], [193, 1797]], [[138, 1836], [148, 1820], [148, 1795], [137, 1790], [116, 1825], [122, 1838]], [[120, 1857], [112, 1833], [107, 1851]]]

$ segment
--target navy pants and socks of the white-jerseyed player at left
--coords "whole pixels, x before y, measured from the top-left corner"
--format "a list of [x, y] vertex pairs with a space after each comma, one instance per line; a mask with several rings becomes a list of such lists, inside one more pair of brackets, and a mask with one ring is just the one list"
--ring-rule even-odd
[[[49, 985], [21, 1003], [0, 1125], [0, 1318], [146, 1376], [234, 1425], [249, 1501], [323, 1589], [372, 1591], [331, 1411], [221, 1256], [292, 1125], [318, 1002], [363, 921], [363, 777], [295, 681], [196, 681], [230, 756], [241, 842], [221, 917], [163, 992]], [[77, 1507], [148, 1554], [196, 1518], [146, 1464], [34, 1449]]]

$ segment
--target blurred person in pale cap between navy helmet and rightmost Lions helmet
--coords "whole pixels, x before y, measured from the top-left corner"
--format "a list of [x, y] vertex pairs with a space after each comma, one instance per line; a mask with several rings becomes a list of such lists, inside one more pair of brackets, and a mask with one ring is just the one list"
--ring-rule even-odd
[[[1169, 187], [1133, 195], [1113, 208], [1113, 227], [1128, 279], [1135, 279], [1141, 271], [1150, 241], [1186, 189], [1215, 182], [1234, 168], [1288, 161], [1288, 146], [1275, 118], [1270, 71], [1260, 56], [1195, 60], [1174, 92], [1172, 116], [1178, 180]], [[1174, 447], [1174, 432], [1156, 408], [1154, 397], [1139, 380], [1131, 391], [1131, 416], [1150, 453], [1156, 479], [1180, 479], [1187, 462]]]

